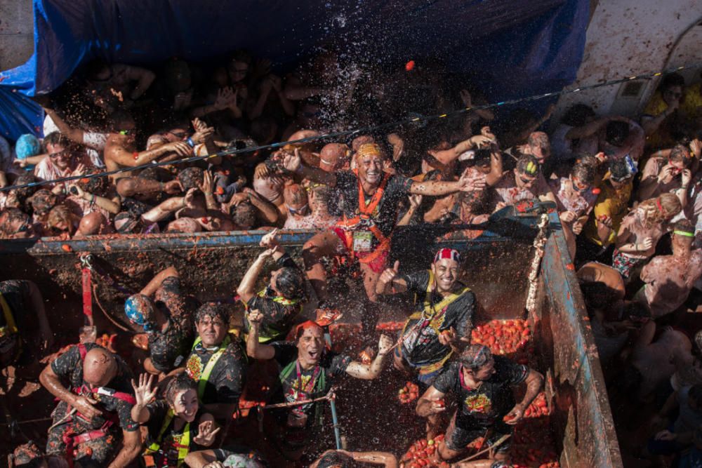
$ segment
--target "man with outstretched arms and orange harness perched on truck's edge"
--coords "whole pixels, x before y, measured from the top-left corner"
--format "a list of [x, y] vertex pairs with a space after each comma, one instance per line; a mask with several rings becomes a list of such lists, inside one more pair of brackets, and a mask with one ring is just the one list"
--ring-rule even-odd
[[[485, 187], [484, 175], [463, 175], [451, 182], [416, 182], [383, 171], [385, 155], [375, 143], [360, 145], [354, 171], [327, 173], [300, 163], [298, 154], [284, 159], [286, 170], [299, 173], [314, 182], [336, 187], [343, 194], [342, 219], [331, 231], [312, 237], [303, 250], [303, 259], [319, 305], [327, 299], [326, 274], [320, 260], [331, 255], [348, 255], [358, 260], [364, 276], [364, 288], [370, 303], [362, 317], [364, 333], [370, 335], [378, 319], [376, 283], [385, 269], [390, 252], [392, 231], [397, 225], [399, 202], [408, 194], [446, 195], [470, 192]], [[373, 304], [373, 307], [371, 307]]]

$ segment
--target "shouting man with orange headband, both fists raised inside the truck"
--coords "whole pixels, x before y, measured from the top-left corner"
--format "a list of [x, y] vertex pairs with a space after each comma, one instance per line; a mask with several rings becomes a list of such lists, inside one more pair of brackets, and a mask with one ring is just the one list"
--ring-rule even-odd
[[[267, 424], [268, 434], [281, 453], [289, 460], [299, 460], [321, 427], [325, 401], [310, 402], [325, 396], [344, 373], [357, 379], [373, 380], [383, 369], [383, 360], [390, 352], [392, 340], [380, 335], [378, 355], [369, 364], [352, 361], [350, 356], [336, 354], [324, 345], [324, 330], [313, 321], [300, 323], [296, 342], [272, 342], [265, 345], [258, 339], [263, 314], [249, 314], [249, 335], [246, 353], [253, 359], [274, 359], [278, 364], [278, 379], [272, 387], [269, 403], [295, 403], [270, 414], [274, 424]], [[307, 401], [307, 403], [302, 403]], [[272, 422], [272, 421], [270, 421]]]

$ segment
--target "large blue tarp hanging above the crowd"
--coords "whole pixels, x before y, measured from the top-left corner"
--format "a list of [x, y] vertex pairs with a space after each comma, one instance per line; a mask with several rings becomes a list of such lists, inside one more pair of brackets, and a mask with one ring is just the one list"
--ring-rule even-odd
[[[325, 42], [402, 64], [441, 58], [488, 98], [574, 81], [589, 0], [34, 0], [34, 55], [0, 73], [0, 135], [41, 126], [26, 96], [50, 93], [92, 58], [150, 65], [236, 48], [291, 65]], [[488, 85], [489, 86], [486, 86]]]

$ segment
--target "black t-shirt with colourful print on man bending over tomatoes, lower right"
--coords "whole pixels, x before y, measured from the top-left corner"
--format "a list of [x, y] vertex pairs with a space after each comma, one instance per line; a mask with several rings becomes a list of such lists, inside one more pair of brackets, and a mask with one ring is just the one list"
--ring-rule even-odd
[[461, 429], [489, 427], [506, 415], [515, 406], [512, 387], [527, 379], [529, 368], [502, 356], [494, 356], [495, 373], [477, 389], [463, 384], [461, 363], [453, 362], [432, 384], [443, 394], [453, 392], [457, 396], [458, 413], [456, 426]]

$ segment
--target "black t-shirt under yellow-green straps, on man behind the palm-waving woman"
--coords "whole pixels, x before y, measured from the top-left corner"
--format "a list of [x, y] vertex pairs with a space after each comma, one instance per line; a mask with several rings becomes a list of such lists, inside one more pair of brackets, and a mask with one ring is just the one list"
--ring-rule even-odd
[[[187, 358], [187, 373], [199, 381], [201, 373], [218, 348], [207, 349], [198, 343]], [[205, 385], [200, 399], [203, 404], [237, 403], [246, 379], [246, 356], [234, 338], [218, 359]], [[217, 417], [219, 415], [216, 415]]]

